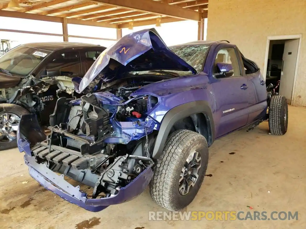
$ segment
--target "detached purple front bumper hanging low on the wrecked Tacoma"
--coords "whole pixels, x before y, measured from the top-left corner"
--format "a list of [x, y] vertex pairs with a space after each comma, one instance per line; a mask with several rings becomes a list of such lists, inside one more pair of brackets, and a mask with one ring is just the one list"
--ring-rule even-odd
[[24, 161], [29, 167], [30, 175], [46, 189], [88, 211], [98, 212], [109, 205], [120, 204], [132, 200], [144, 191], [153, 176], [152, 168], [148, 166], [128, 185], [121, 187], [118, 194], [106, 198], [89, 199], [86, 197], [86, 193], [80, 191], [79, 186], [74, 187], [65, 181], [64, 175], [54, 173], [47, 168], [46, 163], [39, 164], [36, 162], [35, 156], [32, 156], [30, 142], [36, 144], [45, 139], [46, 136], [40, 129], [36, 115], [23, 115], [17, 130], [17, 143], [19, 151], [24, 151], [25, 153]]

